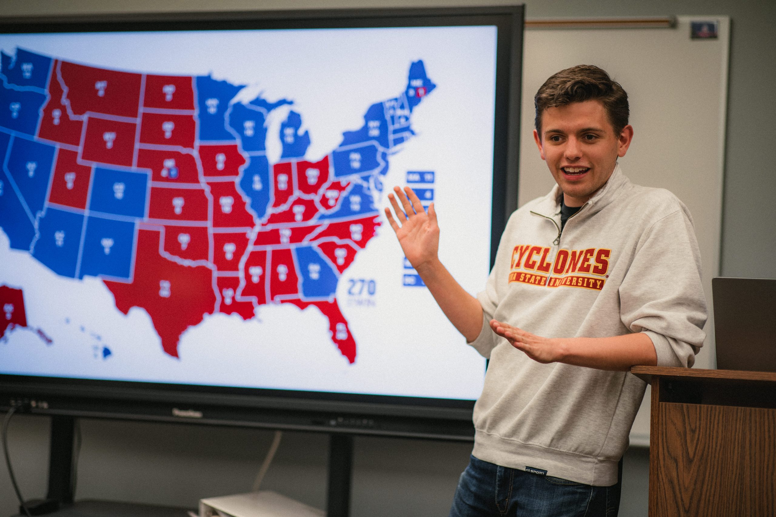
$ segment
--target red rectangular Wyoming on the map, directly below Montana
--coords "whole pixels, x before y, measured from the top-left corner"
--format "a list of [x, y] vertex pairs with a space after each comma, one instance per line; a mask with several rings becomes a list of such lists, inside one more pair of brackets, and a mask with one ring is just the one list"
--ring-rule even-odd
[[100, 164], [132, 167], [136, 128], [137, 124], [132, 122], [88, 117], [81, 158]]

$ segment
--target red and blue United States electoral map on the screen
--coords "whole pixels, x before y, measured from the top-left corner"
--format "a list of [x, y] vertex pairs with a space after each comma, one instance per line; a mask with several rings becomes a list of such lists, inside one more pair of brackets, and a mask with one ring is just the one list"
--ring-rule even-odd
[[[404, 91], [306, 160], [299, 113], [267, 134], [270, 112], [293, 100], [238, 102], [243, 85], [211, 76], [2, 53], [0, 229], [56, 274], [101, 278], [124, 314], [143, 308], [172, 357], [206, 315], [291, 303], [317, 308], [353, 363], [338, 281], [375, 236], [381, 178], [435, 88], [422, 61], [408, 65]], [[275, 163], [268, 138], [282, 143]]]

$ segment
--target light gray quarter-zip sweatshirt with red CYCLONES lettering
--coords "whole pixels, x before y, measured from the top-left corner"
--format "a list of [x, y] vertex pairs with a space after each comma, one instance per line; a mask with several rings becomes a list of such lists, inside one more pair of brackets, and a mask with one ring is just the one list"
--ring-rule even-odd
[[483, 328], [470, 344], [490, 364], [473, 455], [609, 486], [646, 384], [627, 372], [539, 364], [488, 322], [545, 337], [644, 332], [658, 365], [691, 367], [707, 318], [698, 243], [676, 196], [632, 184], [619, 165], [563, 233], [560, 195], [556, 186], [511, 215], [477, 295]]

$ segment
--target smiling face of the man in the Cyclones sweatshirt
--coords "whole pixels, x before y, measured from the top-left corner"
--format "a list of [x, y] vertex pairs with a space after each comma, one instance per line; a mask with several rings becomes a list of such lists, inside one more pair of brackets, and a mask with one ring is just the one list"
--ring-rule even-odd
[[631, 126], [615, 135], [600, 101], [545, 109], [542, 134], [534, 130], [539, 154], [563, 191], [566, 206], [584, 205], [608, 181], [632, 138]]

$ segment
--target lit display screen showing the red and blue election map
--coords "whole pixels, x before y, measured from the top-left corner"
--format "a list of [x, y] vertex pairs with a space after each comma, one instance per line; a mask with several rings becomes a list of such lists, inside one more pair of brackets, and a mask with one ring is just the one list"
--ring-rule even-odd
[[0, 35], [0, 374], [473, 401], [485, 360], [383, 208], [434, 202], [443, 263], [483, 288], [497, 39]]

